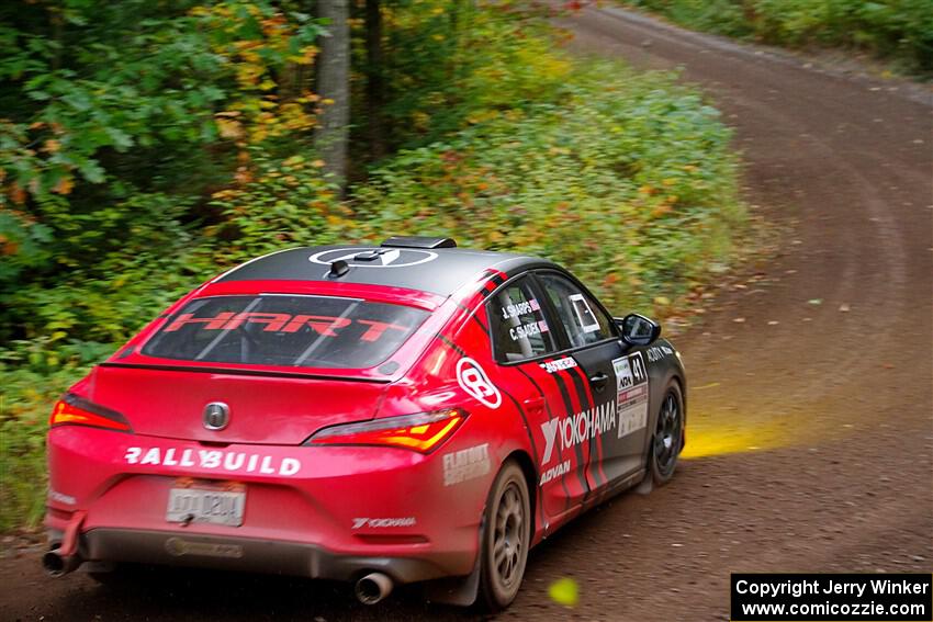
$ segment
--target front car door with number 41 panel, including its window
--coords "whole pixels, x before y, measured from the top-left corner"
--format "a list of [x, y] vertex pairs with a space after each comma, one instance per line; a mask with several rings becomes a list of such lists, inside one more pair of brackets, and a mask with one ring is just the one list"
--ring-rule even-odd
[[620, 484], [643, 466], [644, 361], [640, 353], [627, 355], [611, 317], [582, 286], [557, 271], [542, 271], [536, 278], [585, 380], [588, 406], [575, 425], [577, 438], [586, 437], [591, 446], [587, 483], [596, 490]]

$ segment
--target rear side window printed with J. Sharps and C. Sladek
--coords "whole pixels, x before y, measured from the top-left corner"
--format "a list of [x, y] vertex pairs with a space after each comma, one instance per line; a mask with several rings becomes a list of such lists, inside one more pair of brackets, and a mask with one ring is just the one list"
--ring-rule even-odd
[[499, 362], [524, 361], [557, 350], [551, 328], [527, 278], [499, 290], [486, 303], [486, 314]]

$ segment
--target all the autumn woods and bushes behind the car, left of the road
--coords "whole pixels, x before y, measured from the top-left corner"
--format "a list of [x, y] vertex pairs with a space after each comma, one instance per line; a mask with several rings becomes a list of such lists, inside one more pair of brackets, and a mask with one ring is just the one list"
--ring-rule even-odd
[[727, 265], [730, 133], [676, 76], [572, 58], [524, 4], [368, 0], [341, 91], [304, 4], [0, 8], [0, 530], [41, 520], [57, 396], [259, 253], [446, 234], [660, 315]]

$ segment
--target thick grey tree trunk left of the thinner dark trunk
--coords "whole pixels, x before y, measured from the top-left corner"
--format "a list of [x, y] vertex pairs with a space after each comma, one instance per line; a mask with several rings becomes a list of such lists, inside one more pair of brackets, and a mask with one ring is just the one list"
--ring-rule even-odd
[[318, 0], [317, 7], [319, 16], [329, 20], [329, 36], [321, 37], [317, 94], [324, 106], [315, 143], [327, 172], [335, 174], [342, 186], [347, 180], [350, 123], [349, 0]]

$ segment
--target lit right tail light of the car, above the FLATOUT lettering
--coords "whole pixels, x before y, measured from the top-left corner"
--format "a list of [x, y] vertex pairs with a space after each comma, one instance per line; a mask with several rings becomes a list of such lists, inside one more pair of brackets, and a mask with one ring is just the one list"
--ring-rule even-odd
[[463, 423], [466, 412], [459, 408], [419, 412], [333, 426], [316, 432], [308, 445], [389, 445], [428, 453]]

